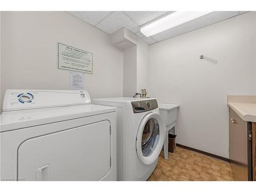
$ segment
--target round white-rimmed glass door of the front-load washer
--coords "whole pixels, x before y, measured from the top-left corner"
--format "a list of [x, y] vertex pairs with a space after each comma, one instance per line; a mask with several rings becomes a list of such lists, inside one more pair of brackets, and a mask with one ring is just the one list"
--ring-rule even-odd
[[142, 119], [136, 138], [136, 151], [141, 163], [149, 165], [157, 160], [165, 136], [165, 124], [158, 113], [149, 113]]

